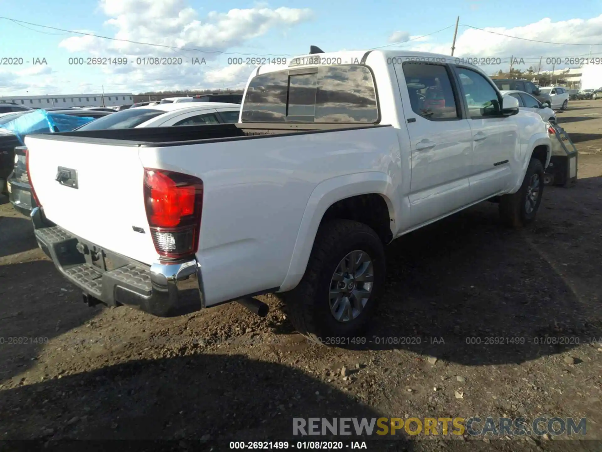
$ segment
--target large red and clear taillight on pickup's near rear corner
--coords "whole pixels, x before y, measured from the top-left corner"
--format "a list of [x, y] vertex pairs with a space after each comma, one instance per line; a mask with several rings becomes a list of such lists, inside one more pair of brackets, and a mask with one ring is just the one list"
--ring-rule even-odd
[[161, 169], [144, 169], [144, 206], [157, 253], [182, 259], [199, 247], [203, 181]]

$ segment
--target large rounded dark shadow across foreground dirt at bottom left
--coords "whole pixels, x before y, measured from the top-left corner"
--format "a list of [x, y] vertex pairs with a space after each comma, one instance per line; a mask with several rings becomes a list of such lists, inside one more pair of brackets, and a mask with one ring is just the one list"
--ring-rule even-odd
[[[298, 441], [293, 418], [379, 417], [296, 369], [218, 354], [132, 360], [2, 391], [0, 405], [12, 408], [0, 412], [0, 423], [20, 425], [4, 439], [176, 439], [198, 450]], [[397, 438], [400, 450], [413, 450]]]

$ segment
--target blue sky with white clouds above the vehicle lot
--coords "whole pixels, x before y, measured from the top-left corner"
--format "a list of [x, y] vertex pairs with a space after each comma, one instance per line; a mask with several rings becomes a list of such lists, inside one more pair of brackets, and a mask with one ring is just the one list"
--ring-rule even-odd
[[[219, 58], [205, 55], [203, 67], [82, 67], [69, 65], [70, 57], [137, 57], [175, 56], [190, 60], [190, 52], [174, 52], [150, 46], [123, 45], [115, 42], [72, 38], [61, 31], [0, 19], [0, 58], [46, 58], [48, 66], [0, 66], [0, 95], [60, 94], [99, 92], [140, 92], [151, 89], [197, 89], [234, 87], [244, 84], [251, 66], [229, 67], [228, 57], [240, 54], [296, 55], [305, 54], [310, 44], [325, 51], [367, 49], [389, 45], [391, 36], [417, 37], [450, 27], [427, 39], [406, 42], [389, 48], [449, 52], [456, 16], [461, 24], [479, 28], [495, 28], [498, 33], [529, 39], [601, 43], [602, 12], [600, 1], [577, 0], [571, 7], [550, 2], [487, 0], [402, 1], [287, 1], [247, 2], [200, 0], [85, 0], [54, 2], [41, 0], [0, 0], [0, 15], [11, 19], [49, 25], [67, 30], [166, 45], [204, 47], [231, 52]], [[161, 7], [149, 7], [150, 4]], [[191, 8], [191, 9], [187, 9]], [[216, 9], [217, 8], [217, 9]], [[236, 10], [240, 9], [236, 13]], [[216, 11], [216, 13], [211, 13]], [[229, 13], [230, 11], [230, 13]], [[575, 11], [575, 13], [571, 13]], [[229, 14], [228, 14], [229, 13]], [[548, 21], [542, 22], [542, 19]], [[116, 24], [105, 22], [116, 20]], [[579, 22], [579, 19], [581, 22]], [[577, 22], [571, 22], [576, 20]], [[203, 28], [213, 24], [213, 28]], [[146, 27], [146, 28], [145, 28]], [[190, 27], [192, 31], [186, 31]], [[196, 31], [194, 31], [196, 30]], [[120, 34], [116, 34], [116, 33]], [[220, 40], [216, 36], [223, 36]], [[589, 46], [559, 46], [504, 38], [461, 25], [458, 30], [456, 55], [476, 57], [531, 57], [526, 66], [539, 56], [587, 55]], [[61, 44], [61, 42], [63, 42]], [[217, 44], [216, 44], [217, 43]], [[122, 43], [123, 44], [123, 43]], [[138, 47], [137, 49], [135, 47]], [[602, 57], [602, 45], [592, 47], [594, 56]], [[202, 56], [199, 53], [194, 55]], [[0, 61], [2, 62], [2, 61]], [[525, 66], [525, 68], [526, 68]], [[537, 66], [537, 64], [535, 64]], [[545, 64], [544, 64], [545, 66]], [[505, 66], [504, 66], [505, 67]], [[558, 68], [558, 67], [557, 67]], [[498, 67], [488, 67], [491, 73]], [[548, 67], [542, 67], [548, 69]]]

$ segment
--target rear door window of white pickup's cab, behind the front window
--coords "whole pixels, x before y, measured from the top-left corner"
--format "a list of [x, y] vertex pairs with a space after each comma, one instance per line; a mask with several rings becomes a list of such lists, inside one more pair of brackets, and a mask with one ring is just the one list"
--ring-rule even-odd
[[402, 71], [414, 113], [432, 121], [461, 117], [445, 66], [406, 61]]

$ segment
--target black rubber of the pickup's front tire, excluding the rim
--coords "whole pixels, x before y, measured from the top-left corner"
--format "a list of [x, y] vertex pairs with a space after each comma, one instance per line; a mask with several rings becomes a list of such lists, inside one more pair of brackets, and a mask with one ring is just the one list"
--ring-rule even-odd
[[[527, 191], [530, 189], [530, 183], [533, 175], [537, 175], [539, 180], [539, 192], [535, 201], [535, 206], [531, 212], [527, 212]], [[513, 227], [520, 228], [524, 225], [529, 224], [535, 219], [535, 215], [541, 204], [542, 196], [544, 195], [544, 166], [538, 159], [532, 158], [527, 168], [527, 173], [523, 179], [518, 192], [512, 195], [500, 196], [500, 219], [504, 224]]]

